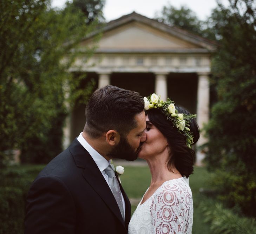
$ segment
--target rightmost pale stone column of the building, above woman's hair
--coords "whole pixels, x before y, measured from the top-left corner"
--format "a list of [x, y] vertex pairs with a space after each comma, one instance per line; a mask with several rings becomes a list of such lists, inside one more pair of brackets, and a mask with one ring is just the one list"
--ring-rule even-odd
[[[209, 104], [210, 104], [210, 84], [208, 73], [198, 73], [198, 87], [197, 87], [197, 123], [201, 131], [197, 146], [203, 145], [207, 139], [204, 136], [202, 128], [205, 123], [209, 121]], [[202, 160], [205, 155], [201, 150], [197, 151], [196, 165], [202, 166]]]

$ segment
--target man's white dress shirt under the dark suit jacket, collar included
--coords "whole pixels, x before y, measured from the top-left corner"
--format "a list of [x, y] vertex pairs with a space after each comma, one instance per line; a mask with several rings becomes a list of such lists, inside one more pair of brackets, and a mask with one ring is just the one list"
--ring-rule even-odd
[[[92, 156], [92, 159], [96, 163], [97, 167], [99, 168], [101, 174], [103, 175], [104, 179], [106, 180], [107, 184], [109, 185], [109, 176], [104, 171], [110, 164], [110, 161], [107, 161], [103, 156], [101, 156], [91, 145], [84, 139], [82, 133], [78, 136], [77, 140], [79, 143], [86, 149], [86, 151]], [[110, 185], [109, 185], [110, 187]], [[125, 202], [124, 197], [122, 195], [122, 202], [124, 207], [124, 214], [125, 214]]]

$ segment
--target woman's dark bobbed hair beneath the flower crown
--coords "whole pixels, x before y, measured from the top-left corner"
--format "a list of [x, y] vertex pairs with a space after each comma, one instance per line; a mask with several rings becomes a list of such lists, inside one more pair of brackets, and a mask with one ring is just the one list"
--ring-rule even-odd
[[[190, 114], [186, 109], [175, 106], [178, 113]], [[168, 169], [170, 171], [176, 168], [182, 176], [189, 177], [193, 173], [193, 165], [195, 163], [195, 151], [186, 145], [186, 138], [179, 133], [176, 127], [168, 120], [159, 109], [150, 109], [146, 112], [150, 122], [166, 137], [169, 147], [170, 156], [168, 158]], [[194, 118], [190, 119], [190, 132], [192, 133], [195, 144], [200, 136], [197, 122]]]

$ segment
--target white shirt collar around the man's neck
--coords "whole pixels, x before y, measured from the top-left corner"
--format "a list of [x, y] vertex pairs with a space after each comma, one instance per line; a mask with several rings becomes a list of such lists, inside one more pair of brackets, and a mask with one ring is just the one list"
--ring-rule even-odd
[[77, 140], [86, 149], [86, 151], [92, 156], [92, 159], [98, 166], [100, 172], [104, 171], [110, 164], [102, 155], [100, 155], [92, 146], [84, 139], [82, 133], [78, 136]]

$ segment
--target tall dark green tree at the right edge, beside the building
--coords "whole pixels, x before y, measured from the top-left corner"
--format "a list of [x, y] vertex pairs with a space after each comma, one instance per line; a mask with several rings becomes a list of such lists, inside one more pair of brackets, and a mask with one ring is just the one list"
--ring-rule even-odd
[[229, 2], [212, 15], [219, 35], [211, 80], [217, 102], [206, 127], [206, 162], [217, 172], [219, 198], [256, 216], [256, 5]]

